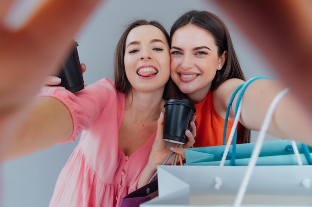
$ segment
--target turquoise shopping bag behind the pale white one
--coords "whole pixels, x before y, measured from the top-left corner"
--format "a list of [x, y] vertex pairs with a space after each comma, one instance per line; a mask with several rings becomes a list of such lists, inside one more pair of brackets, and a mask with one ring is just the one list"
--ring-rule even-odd
[[[296, 142], [302, 162], [309, 165], [306, 158], [306, 150], [302, 143]], [[227, 159], [224, 165], [231, 164], [231, 153], [233, 145], [230, 146]], [[235, 165], [247, 165], [255, 143], [242, 143], [236, 145]], [[185, 149], [184, 165], [220, 165], [225, 145], [195, 147]], [[312, 147], [308, 146], [310, 156]], [[257, 165], [297, 165], [296, 155], [291, 140], [281, 139], [263, 142]]]

